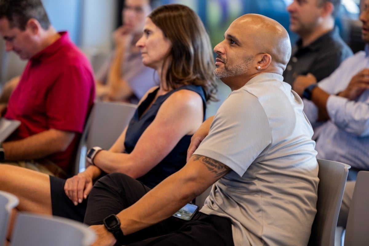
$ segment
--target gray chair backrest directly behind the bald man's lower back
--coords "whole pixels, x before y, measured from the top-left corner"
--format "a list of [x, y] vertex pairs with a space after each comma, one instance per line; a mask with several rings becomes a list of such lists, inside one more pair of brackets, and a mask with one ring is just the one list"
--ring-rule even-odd
[[318, 159], [319, 185], [317, 214], [308, 245], [334, 246], [339, 208], [341, 207], [349, 165]]

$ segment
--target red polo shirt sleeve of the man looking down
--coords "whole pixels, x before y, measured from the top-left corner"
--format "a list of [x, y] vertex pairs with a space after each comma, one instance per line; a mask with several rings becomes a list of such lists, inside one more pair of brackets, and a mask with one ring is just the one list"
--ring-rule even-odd
[[50, 128], [82, 132], [94, 97], [94, 80], [90, 70], [69, 65], [51, 86], [46, 98]]

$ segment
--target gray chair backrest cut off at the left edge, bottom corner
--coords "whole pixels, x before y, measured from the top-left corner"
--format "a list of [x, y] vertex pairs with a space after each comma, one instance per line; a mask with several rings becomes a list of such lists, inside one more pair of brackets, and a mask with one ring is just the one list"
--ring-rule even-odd
[[0, 191], [0, 245], [4, 245], [8, 232], [11, 209], [19, 204], [18, 198], [5, 191]]

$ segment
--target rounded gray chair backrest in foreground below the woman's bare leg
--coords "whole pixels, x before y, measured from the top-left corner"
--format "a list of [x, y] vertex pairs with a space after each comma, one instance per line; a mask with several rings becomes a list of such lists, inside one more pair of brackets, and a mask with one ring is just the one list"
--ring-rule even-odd
[[95, 240], [95, 232], [78, 221], [18, 212], [11, 246], [89, 246]]

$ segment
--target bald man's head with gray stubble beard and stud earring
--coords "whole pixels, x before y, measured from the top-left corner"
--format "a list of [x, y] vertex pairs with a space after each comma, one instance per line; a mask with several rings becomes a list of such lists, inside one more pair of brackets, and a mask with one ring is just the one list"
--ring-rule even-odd
[[237, 90], [260, 73], [282, 75], [290, 60], [291, 41], [277, 21], [245, 14], [231, 23], [214, 52], [214, 75]]

